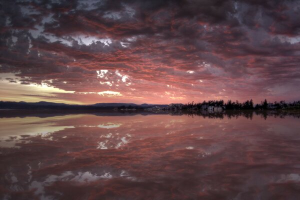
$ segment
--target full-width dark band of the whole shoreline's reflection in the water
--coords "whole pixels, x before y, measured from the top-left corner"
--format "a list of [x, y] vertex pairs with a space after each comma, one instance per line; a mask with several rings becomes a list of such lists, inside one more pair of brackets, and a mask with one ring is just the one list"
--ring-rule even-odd
[[27, 110], [23, 111], [20, 109], [15, 110], [1, 110], [0, 118], [4, 117], [50, 117], [50, 116], [63, 116], [69, 114], [93, 114], [96, 116], [132, 116], [136, 114], [140, 115], [188, 115], [190, 117], [201, 116], [203, 118], [239, 118], [245, 117], [252, 119], [254, 115], [260, 116], [266, 119], [267, 117], [280, 117], [291, 116], [300, 118], [300, 110], [288, 110], [288, 109], [278, 109], [278, 110], [223, 110], [221, 112], [210, 112], [207, 110], [155, 110], [155, 111], [145, 111], [145, 110]]

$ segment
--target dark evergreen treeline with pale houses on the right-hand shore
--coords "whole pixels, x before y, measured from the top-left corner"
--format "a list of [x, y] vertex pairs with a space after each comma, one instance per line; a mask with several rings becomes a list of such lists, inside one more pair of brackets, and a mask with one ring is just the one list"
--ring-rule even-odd
[[222, 109], [300, 109], [300, 100], [286, 103], [284, 100], [267, 102], [266, 99], [254, 105], [253, 100], [244, 102], [228, 100], [208, 100], [203, 102], [183, 104], [181, 109], [207, 109], [209, 106], [220, 107]]

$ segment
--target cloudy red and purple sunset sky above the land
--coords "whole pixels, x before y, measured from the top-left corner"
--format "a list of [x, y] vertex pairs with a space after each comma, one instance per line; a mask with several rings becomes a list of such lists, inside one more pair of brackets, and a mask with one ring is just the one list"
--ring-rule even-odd
[[0, 100], [300, 99], [297, 0], [0, 2]]

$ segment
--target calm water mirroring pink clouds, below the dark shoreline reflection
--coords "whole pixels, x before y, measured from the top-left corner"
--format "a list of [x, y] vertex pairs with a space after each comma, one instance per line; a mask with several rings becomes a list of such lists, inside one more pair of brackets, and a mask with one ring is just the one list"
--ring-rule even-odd
[[294, 114], [10, 116], [0, 139], [0, 199], [300, 198]]

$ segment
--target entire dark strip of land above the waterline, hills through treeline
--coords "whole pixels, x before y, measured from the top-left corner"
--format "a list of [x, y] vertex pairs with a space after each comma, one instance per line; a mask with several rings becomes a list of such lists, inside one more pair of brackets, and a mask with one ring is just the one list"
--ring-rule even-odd
[[96, 103], [92, 105], [65, 104], [53, 102], [12, 102], [0, 101], [0, 109], [56, 109], [56, 110], [266, 110], [266, 109], [300, 109], [300, 100], [286, 103], [284, 100], [267, 102], [266, 99], [260, 103], [254, 104], [252, 99], [244, 102], [228, 100], [208, 100], [194, 103], [194, 101], [182, 104], [171, 103], [166, 104], [134, 104], [134, 103]]

